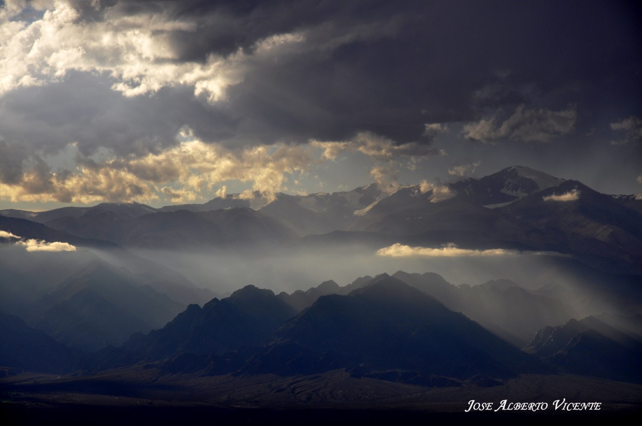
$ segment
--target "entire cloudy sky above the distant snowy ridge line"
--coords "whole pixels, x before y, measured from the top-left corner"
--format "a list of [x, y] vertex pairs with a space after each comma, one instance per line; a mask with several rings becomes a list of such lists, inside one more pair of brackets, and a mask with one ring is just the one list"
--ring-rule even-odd
[[447, 183], [642, 192], [642, 6], [0, 2], [0, 208]]

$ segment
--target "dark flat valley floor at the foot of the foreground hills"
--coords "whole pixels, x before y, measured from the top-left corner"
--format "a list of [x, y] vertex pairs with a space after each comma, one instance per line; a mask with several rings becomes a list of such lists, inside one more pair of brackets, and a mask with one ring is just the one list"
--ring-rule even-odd
[[[20, 373], [0, 378], [0, 409], [9, 424], [65, 420], [67, 424], [351, 423], [356, 418], [422, 423], [426, 420], [494, 422], [516, 416], [533, 422], [620, 418], [642, 411], [642, 385], [576, 375], [521, 375], [502, 386], [425, 388], [351, 377], [343, 370], [297, 377], [162, 375], [135, 366], [73, 377]], [[553, 402], [600, 402], [600, 411], [562, 411]], [[469, 401], [492, 411], [465, 412]], [[546, 402], [542, 411], [494, 411], [502, 400]], [[215, 420], [216, 419], [216, 420]]]

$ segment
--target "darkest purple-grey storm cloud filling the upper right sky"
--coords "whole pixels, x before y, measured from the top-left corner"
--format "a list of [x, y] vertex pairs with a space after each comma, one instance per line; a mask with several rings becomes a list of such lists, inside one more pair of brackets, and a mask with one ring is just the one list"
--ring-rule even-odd
[[642, 47], [636, 13], [631, 4], [598, 2], [171, 8], [173, 16], [203, 22], [196, 35], [177, 33], [182, 58], [252, 51], [269, 35], [305, 34], [300, 51], [254, 63], [229, 89], [225, 112], [238, 120], [239, 139], [265, 143], [345, 140], [361, 131], [421, 142], [425, 123], [480, 119], [498, 108], [579, 103], [580, 112], [602, 112], [605, 88], [634, 105]]

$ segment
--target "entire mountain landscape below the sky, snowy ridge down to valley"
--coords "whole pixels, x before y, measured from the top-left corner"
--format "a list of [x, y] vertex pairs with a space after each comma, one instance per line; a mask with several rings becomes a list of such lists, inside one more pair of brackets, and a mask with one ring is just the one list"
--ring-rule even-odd
[[3, 406], [641, 409], [641, 194], [514, 166], [261, 200], [0, 211]]

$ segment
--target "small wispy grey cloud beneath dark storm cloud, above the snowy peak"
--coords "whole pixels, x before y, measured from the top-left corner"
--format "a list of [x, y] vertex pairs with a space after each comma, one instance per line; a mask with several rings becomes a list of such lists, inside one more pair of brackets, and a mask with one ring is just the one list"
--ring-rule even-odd
[[556, 137], [568, 135], [575, 130], [577, 112], [575, 107], [551, 111], [546, 108], [527, 109], [517, 107], [515, 113], [503, 123], [497, 115], [485, 117], [464, 125], [465, 137], [473, 141], [496, 142], [514, 139], [525, 142], [550, 142]]

